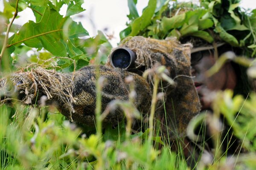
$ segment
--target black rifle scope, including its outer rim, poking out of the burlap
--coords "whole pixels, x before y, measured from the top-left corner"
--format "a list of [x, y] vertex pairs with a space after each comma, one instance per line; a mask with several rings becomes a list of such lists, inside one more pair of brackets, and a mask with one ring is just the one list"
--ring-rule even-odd
[[137, 56], [129, 48], [116, 48], [110, 55], [111, 65], [113, 67], [128, 69], [134, 67]]

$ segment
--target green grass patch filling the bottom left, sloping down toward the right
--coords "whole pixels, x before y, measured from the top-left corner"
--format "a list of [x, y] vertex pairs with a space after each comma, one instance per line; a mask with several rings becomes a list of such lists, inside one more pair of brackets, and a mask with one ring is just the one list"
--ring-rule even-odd
[[3, 105], [0, 113], [1, 169], [186, 169], [186, 162], [167, 146], [160, 152], [148, 150], [138, 136], [120, 140], [124, 122], [115, 131], [107, 128], [104, 142], [99, 142], [96, 135], [85, 138], [86, 134], [64, 121], [60, 113], [48, 113], [44, 120], [45, 109], [39, 115], [39, 110], [20, 105], [15, 109]]

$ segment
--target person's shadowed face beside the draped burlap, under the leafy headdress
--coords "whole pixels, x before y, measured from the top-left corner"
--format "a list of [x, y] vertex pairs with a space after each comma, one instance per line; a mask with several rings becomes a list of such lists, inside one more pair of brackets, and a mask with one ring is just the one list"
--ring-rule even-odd
[[[212, 93], [226, 88], [234, 88], [229, 86], [229, 71], [232, 69], [230, 63], [225, 64], [216, 74], [207, 77], [206, 71], [215, 64], [213, 51], [199, 51], [191, 54], [191, 71], [194, 77], [195, 87], [198, 91], [200, 102], [203, 109], [211, 107]], [[228, 65], [229, 64], [229, 65]]]

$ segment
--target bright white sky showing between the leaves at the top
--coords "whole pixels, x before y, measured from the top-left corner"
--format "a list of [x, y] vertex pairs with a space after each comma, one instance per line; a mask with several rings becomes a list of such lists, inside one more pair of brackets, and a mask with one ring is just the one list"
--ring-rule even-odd
[[[190, 0], [180, 0], [190, 1]], [[198, 0], [193, 0], [198, 2]], [[148, 0], [138, 0], [137, 10], [139, 15], [142, 14], [143, 8], [147, 6]], [[105, 34], [113, 34], [114, 38], [110, 41], [113, 47], [117, 46], [119, 32], [126, 28], [125, 23], [128, 21], [126, 15], [129, 14], [127, 0], [84, 0], [82, 5], [86, 11], [74, 17], [75, 21], [81, 21], [84, 28], [89, 32], [90, 37], [97, 34], [97, 30]], [[256, 0], [242, 0], [241, 7], [256, 8]], [[3, 0], [0, 0], [0, 11], [3, 10]], [[32, 10], [26, 10], [18, 14], [20, 17], [15, 19], [16, 24], [23, 25], [28, 20], [34, 20]]]

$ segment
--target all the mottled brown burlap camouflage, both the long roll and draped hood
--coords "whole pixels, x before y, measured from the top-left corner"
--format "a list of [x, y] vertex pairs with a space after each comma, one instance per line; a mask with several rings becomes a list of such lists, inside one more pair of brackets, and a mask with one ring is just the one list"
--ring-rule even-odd
[[[185, 137], [186, 126], [190, 119], [200, 111], [200, 103], [196, 93], [190, 71], [190, 45], [181, 45], [175, 38], [155, 40], [144, 37], [125, 39], [120, 47], [130, 48], [137, 54], [134, 73], [99, 66], [100, 76], [107, 82], [102, 88], [102, 111], [115, 100], [127, 101], [129, 98], [129, 85], [125, 77], [132, 76], [136, 97], [134, 106], [144, 114], [149, 113], [153, 79], [145, 80], [139, 74], [148, 68], [164, 65], [166, 74], [171, 77], [175, 85], [163, 82], [166, 108], [159, 103], [157, 119], [163, 123], [163, 134], [171, 140]], [[41, 96], [47, 96], [47, 103], [54, 102], [57, 108], [68, 119], [81, 125], [94, 126], [96, 108], [96, 66], [90, 65], [70, 74], [61, 74], [43, 68], [32, 68], [30, 71], [18, 71], [10, 76], [18, 97], [24, 104], [34, 104], [41, 101]], [[6, 86], [6, 79], [1, 80], [2, 88]], [[5, 95], [8, 100], [8, 95]], [[166, 109], [166, 111], [165, 111]], [[165, 116], [166, 112], [166, 116]], [[117, 124], [124, 114], [117, 108], [110, 112], [103, 123]], [[167, 125], [166, 125], [167, 122]], [[169, 134], [167, 134], [169, 133]]]

